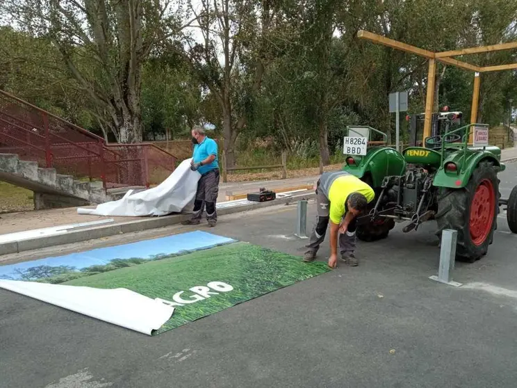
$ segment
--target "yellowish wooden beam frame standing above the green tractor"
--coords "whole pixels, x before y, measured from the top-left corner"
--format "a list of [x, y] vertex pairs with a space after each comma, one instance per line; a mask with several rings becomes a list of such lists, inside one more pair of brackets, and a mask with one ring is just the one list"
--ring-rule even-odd
[[[463, 70], [470, 70], [475, 72], [474, 76], [474, 90], [472, 97], [472, 111], [470, 113], [470, 124], [475, 124], [477, 120], [477, 109], [479, 104], [479, 86], [481, 84], [480, 74], [486, 72], [499, 72], [501, 70], [514, 70], [517, 69], [517, 63], [511, 63], [509, 65], [498, 65], [479, 67], [471, 65], [470, 63], [462, 62], [461, 60], [454, 59], [454, 56], [462, 56], [468, 54], [480, 54], [492, 51], [501, 51], [508, 49], [517, 49], [517, 42], [501, 43], [500, 45], [482, 46], [482, 47], [470, 47], [468, 49], [442, 51], [435, 53], [419, 47], [407, 45], [406, 43], [399, 42], [386, 38], [376, 33], [370, 33], [368, 31], [361, 30], [357, 33], [357, 37], [360, 39], [370, 40], [370, 42], [377, 43], [378, 45], [384, 45], [393, 49], [405, 51], [407, 53], [416, 54], [429, 60], [429, 70], [427, 74], [427, 96], [425, 99], [425, 123], [424, 123], [424, 141], [425, 138], [431, 136], [431, 118], [434, 105], [434, 86], [436, 79], [436, 61], [446, 63], [460, 67]], [[470, 134], [469, 143], [472, 143], [473, 134]]]

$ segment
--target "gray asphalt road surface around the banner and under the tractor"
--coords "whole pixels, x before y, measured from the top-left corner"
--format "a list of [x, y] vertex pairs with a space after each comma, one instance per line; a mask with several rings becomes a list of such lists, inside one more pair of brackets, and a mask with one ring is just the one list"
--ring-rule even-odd
[[[503, 197], [514, 184], [517, 163], [501, 175]], [[314, 204], [309, 213], [311, 226]], [[225, 216], [209, 232], [301, 255], [295, 217], [294, 204], [270, 207]], [[438, 267], [434, 223], [409, 234], [397, 225], [384, 241], [359, 243], [359, 267], [341, 265], [158, 337], [0, 291], [0, 387], [516, 387], [517, 236], [504, 217], [489, 254], [457, 264], [463, 287], [428, 279]], [[328, 253], [325, 244], [320, 259]]]

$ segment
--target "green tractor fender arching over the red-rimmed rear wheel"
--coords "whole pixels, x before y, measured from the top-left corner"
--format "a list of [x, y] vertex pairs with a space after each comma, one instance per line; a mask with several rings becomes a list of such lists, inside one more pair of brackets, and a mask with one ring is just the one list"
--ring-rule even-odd
[[[500, 163], [492, 152], [489, 151], [467, 151], [463, 159], [463, 150], [450, 154], [434, 175], [433, 185], [436, 187], [463, 188], [468, 183], [475, 168], [482, 161], [490, 161], [498, 171], [504, 170], [504, 164]], [[445, 171], [445, 165], [453, 162], [457, 165], [457, 172]]]

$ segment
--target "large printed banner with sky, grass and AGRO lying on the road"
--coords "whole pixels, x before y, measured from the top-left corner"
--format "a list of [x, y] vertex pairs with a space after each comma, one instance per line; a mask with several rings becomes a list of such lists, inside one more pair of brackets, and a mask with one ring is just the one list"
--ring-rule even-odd
[[[81, 265], [77, 262], [76, 266], [72, 266], [68, 261], [63, 261], [63, 258], [52, 258], [53, 260], [44, 259], [47, 260], [45, 265], [41, 265], [38, 260], [17, 264], [18, 266], [23, 265], [23, 268], [9, 266], [9, 271], [6, 270], [8, 266], [0, 266], [0, 274], [3, 274], [3, 279], [10, 278], [11, 281], [4, 281], [5, 284], [16, 283], [12, 280], [25, 280], [46, 283], [40, 284], [41, 286], [49, 286], [50, 284], [58, 284], [54, 287], [67, 286], [65, 288], [78, 286], [83, 290], [81, 291], [81, 306], [88, 311], [88, 313], [84, 312], [83, 314], [95, 316], [95, 318], [116, 323], [126, 328], [133, 328], [135, 324], [121, 324], [120, 321], [123, 321], [124, 318], [113, 318], [113, 311], [109, 312], [109, 319], [104, 319], [101, 316], [102, 311], [109, 311], [110, 307], [106, 306], [106, 303], [100, 306], [99, 302], [95, 302], [97, 299], [93, 297], [90, 299], [91, 302], [93, 304], [97, 303], [101, 307], [99, 308], [101, 312], [96, 311], [96, 306], [87, 306], [89, 299], [85, 292], [88, 289], [94, 291], [95, 289], [133, 291], [133, 293], [138, 293], [142, 297], [161, 304], [162, 307], [170, 307], [170, 311], [173, 311], [172, 316], [161, 328], [158, 328], [158, 330], [154, 330], [156, 328], [149, 329], [149, 333], [147, 333], [159, 334], [329, 270], [327, 264], [323, 262], [307, 264], [303, 263], [300, 257], [248, 243], [229, 243], [233, 240], [211, 234], [206, 234], [211, 236], [211, 238], [206, 239], [207, 242], [218, 241], [219, 243], [227, 243], [227, 245], [203, 249], [199, 247], [199, 242], [192, 237], [196, 233], [205, 233], [192, 233], [194, 235], [179, 234], [170, 238], [153, 240], [154, 248], [151, 255], [142, 254], [142, 250], [138, 249], [140, 243], [149, 245], [149, 241], [141, 241], [140, 243], [128, 244], [132, 245], [131, 255], [129, 255], [129, 252], [124, 254], [126, 251], [124, 247], [128, 245], [103, 248], [103, 250], [111, 250], [110, 252], [113, 252], [113, 254], [118, 253], [117, 257], [110, 260], [107, 259], [106, 252], [103, 252], [103, 255], [92, 254], [92, 252], [99, 250], [83, 252], [84, 257], [93, 261], [92, 265], [83, 266], [79, 270], [77, 268]], [[169, 245], [168, 250], [174, 253], [167, 254], [167, 247], [161, 246], [160, 242], [165, 239], [172, 239], [172, 237], [175, 241], [182, 242], [182, 249], [178, 250], [178, 248], [174, 248], [174, 245]], [[196, 244], [198, 250], [189, 250], [190, 245], [194, 246]], [[115, 251], [115, 248], [117, 248], [117, 251]], [[192, 252], [192, 250], [195, 250], [195, 252]], [[156, 252], [162, 253], [156, 254]], [[184, 254], [179, 256], [178, 252]], [[103, 257], [103, 263], [97, 264], [99, 256]], [[59, 260], [56, 261], [56, 259]], [[2, 287], [2, 282], [0, 280], [0, 287]], [[3, 288], [9, 289], [7, 286], [3, 286]], [[31, 289], [31, 293], [25, 293], [25, 295], [38, 298], [35, 296], [38, 291]], [[60, 293], [53, 290], [52, 293], [59, 295], [59, 301], [53, 302], [49, 299], [44, 301], [78, 311], [69, 307], [69, 300], [63, 302], [65, 292]], [[70, 295], [72, 294], [70, 293]], [[113, 303], [123, 303], [123, 300]], [[131, 306], [128, 305], [127, 307]], [[90, 313], [94, 310], [95, 312]], [[128, 312], [126, 311], [124, 314], [127, 315]], [[133, 315], [138, 315], [138, 312]], [[163, 313], [161, 316], [163, 317]], [[138, 331], [145, 332], [145, 330], [147, 329]]]

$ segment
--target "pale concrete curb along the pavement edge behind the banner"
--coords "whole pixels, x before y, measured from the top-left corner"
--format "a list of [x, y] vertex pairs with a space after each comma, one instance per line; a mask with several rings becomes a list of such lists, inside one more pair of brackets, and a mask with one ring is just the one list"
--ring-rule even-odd
[[[288, 204], [290, 202], [296, 202], [297, 200], [311, 198], [315, 198], [315, 193], [313, 191], [302, 195], [293, 195], [293, 197], [280, 198], [274, 201], [256, 202], [253, 204], [245, 204], [236, 207], [227, 207], [218, 210], [218, 216], [261, 209], [263, 207], [272, 207], [279, 204]], [[127, 223], [91, 227], [72, 232], [66, 232], [64, 234], [56, 234], [54, 236], [42, 236], [36, 237], [34, 239], [0, 243], [0, 256], [3, 254], [48, 248], [55, 245], [64, 245], [70, 243], [79, 243], [81, 241], [101, 239], [102, 237], [115, 236], [116, 234], [138, 232], [146, 229], [156, 229], [170, 225], [177, 225], [183, 220], [188, 219], [189, 216], [189, 214], [174, 214], [172, 216], [145, 218], [142, 220], [129, 221]]]

